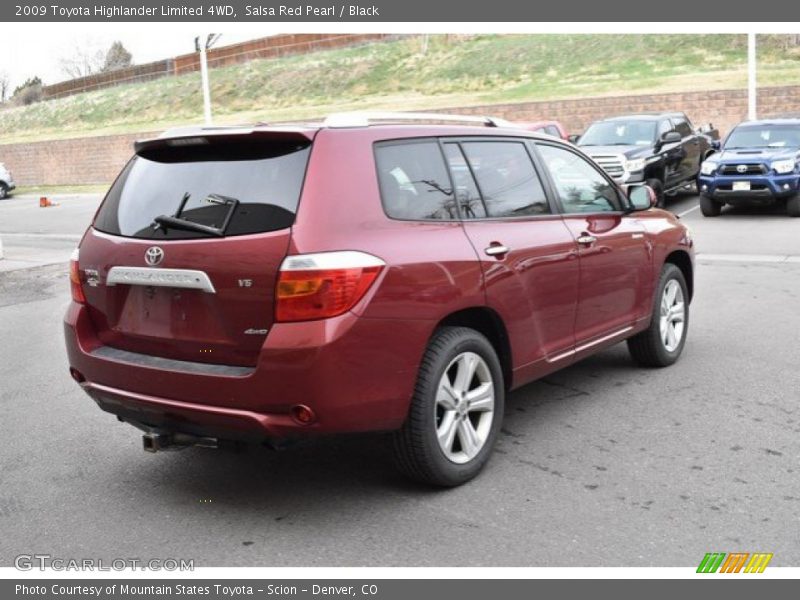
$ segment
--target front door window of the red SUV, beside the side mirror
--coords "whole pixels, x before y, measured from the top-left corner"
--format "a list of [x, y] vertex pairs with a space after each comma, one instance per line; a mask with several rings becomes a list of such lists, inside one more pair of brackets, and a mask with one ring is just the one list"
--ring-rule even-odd
[[565, 213], [620, 210], [616, 188], [586, 159], [565, 148], [544, 144], [538, 148]]

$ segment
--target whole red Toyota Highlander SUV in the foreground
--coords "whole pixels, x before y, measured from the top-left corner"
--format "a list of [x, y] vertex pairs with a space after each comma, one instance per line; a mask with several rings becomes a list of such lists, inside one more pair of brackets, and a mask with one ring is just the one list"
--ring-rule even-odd
[[136, 144], [65, 333], [146, 450], [393, 431], [403, 471], [457, 485], [509, 390], [622, 340], [678, 358], [693, 243], [649, 188], [489, 118], [374, 116]]

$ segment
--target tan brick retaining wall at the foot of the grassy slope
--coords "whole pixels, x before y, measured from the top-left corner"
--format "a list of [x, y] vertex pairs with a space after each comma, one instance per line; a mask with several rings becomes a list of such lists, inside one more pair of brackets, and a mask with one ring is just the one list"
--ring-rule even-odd
[[[592, 121], [629, 112], [682, 110], [695, 124], [712, 122], [724, 135], [747, 116], [747, 92], [720, 90], [676, 94], [648, 94], [494, 104], [437, 109], [462, 114], [487, 114], [510, 121], [556, 119], [571, 133], [580, 133]], [[800, 86], [762, 89], [759, 115], [800, 116]], [[109, 183], [132, 152], [134, 140], [157, 132], [74, 138], [47, 142], [0, 145], [0, 161], [14, 173], [19, 185]]]

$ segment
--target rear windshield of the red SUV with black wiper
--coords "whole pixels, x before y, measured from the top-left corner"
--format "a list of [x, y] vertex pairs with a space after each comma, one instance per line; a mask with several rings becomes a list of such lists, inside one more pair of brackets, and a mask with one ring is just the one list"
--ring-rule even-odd
[[167, 216], [225, 236], [285, 229], [294, 223], [310, 149], [310, 142], [232, 140], [143, 150], [109, 190], [94, 227], [143, 239], [211, 235], [157, 222]]

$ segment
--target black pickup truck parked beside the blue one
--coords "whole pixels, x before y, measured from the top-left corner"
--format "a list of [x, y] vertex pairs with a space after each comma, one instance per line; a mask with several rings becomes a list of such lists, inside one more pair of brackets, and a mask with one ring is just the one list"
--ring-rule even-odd
[[620, 183], [645, 182], [665, 197], [694, 185], [718, 147], [712, 125], [695, 129], [682, 112], [625, 115], [592, 123], [577, 144]]

